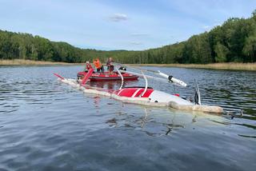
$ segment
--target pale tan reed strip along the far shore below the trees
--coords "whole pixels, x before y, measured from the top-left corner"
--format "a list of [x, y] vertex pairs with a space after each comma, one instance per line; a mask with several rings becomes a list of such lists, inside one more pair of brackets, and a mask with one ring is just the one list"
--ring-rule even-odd
[[[66, 63], [66, 62], [42, 62], [23, 59], [0, 60], [0, 66], [84, 66], [85, 63]], [[249, 70], [256, 71], [255, 63], [210, 63], [210, 64], [129, 64], [130, 66], [158, 66], [158, 67], [177, 67], [211, 70]]]

